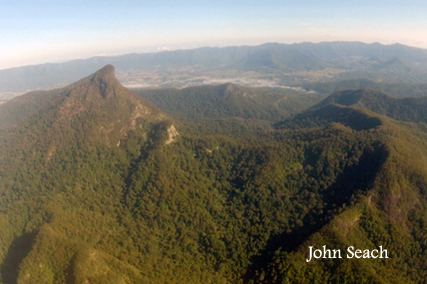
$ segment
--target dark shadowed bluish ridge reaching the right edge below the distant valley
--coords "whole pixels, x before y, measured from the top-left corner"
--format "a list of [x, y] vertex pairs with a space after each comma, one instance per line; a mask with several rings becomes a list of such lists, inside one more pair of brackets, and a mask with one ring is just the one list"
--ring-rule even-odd
[[370, 129], [381, 124], [372, 112], [401, 121], [427, 122], [427, 97], [396, 99], [377, 90], [341, 91], [274, 126], [298, 129], [339, 122], [356, 130]]

